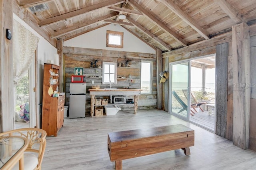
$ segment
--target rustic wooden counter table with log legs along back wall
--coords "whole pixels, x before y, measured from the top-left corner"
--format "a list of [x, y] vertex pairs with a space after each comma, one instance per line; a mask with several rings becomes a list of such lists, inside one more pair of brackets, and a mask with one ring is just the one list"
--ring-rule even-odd
[[137, 113], [138, 110], [138, 100], [141, 93], [141, 89], [123, 89], [123, 88], [113, 88], [113, 89], [89, 89], [90, 96], [91, 96], [91, 117], [94, 115], [94, 104], [95, 104], [95, 96], [110, 96], [112, 100], [112, 96], [115, 95], [124, 95], [124, 96], [132, 96], [134, 95], [134, 114]]

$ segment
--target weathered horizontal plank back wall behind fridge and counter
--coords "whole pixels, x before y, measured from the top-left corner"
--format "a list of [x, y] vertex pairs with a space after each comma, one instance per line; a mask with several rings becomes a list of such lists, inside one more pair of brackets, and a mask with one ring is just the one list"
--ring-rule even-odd
[[[113, 88], [140, 88], [140, 67], [141, 61], [153, 62], [153, 88], [152, 94], [143, 94], [139, 96], [138, 109], [156, 109], [156, 59], [152, 54], [139, 54], [131, 52], [122, 52], [122, 55], [116, 51], [97, 50], [97, 49], [81, 49], [74, 47], [64, 47], [65, 55], [65, 105], [69, 105], [69, 86], [71, 82], [71, 75], [74, 74], [74, 67], [84, 68], [84, 75], [86, 75], [86, 115], [90, 115], [90, 96], [88, 89], [92, 85], [100, 85], [100, 88], [108, 88], [109, 85], [102, 85], [102, 78], [95, 78], [92, 76], [102, 76], [102, 61], [125, 63], [124, 56], [128, 56], [128, 64], [130, 67], [117, 68], [117, 84]], [[100, 54], [100, 55], [99, 55]], [[118, 55], [119, 54], [119, 55]], [[97, 66], [101, 68], [90, 68], [90, 63], [98, 60]], [[128, 77], [131, 74], [132, 79], [122, 79], [119, 77]], [[90, 78], [91, 77], [91, 78]], [[92, 84], [94, 80], [94, 84]], [[127, 98], [134, 98], [134, 96], [126, 96]], [[104, 97], [107, 98], [107, 97]], [[120, 106], [122, 110], [133, 109], [130, 105]]]

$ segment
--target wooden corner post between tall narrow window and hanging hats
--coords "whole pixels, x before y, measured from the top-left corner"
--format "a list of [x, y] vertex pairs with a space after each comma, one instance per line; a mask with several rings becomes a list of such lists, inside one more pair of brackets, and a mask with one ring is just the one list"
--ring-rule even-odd
[[159, 75], [162, 71], [162, 51], [160, 49], [156, 49], [156, 108], [162, 109], [162, 85], [159, 85], [161, 76]]

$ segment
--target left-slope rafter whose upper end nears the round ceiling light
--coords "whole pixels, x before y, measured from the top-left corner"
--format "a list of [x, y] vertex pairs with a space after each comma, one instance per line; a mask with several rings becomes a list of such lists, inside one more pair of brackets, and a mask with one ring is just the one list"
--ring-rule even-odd
[[102, 17], [100, 17], [100, 18], [96, 18], [96, 19], [94, 19], [94, 20], [88, 20], [88, 21], [86, 21], [86, 22], [84, 22], [84, 23], [80, 23], [80, 24], [78, 24], [78, 25], [74, 25], [74, 26], [72, 26], [72, 27], [68, 27], [68, 28], [66, 28], [66, 29], [62, 29], [62, 30], [60, 30], [60, 31], [57, 31], [57, 32], [55, 32], [55, 33], [52, 33], [51, 38], [60, 37], [60, 36], [62, 36], [62, 35], [71, 33], [71, 32], [76, 31], [76, 30], [78, 30], [78, 29], [82, 29], [82, 28], [84, 28], [84, 27], [87, 27], [87, 26], [89, 26], [89, 25], [92, 25], [92, 24], [101, 22], [101, 21], [103, 21], [103, 20], [106, 20], [106, 19], [108, 19], [108, 18], [117, 16], [117, 15], [118, 15], [118, 14], [117, 14], [116, 12], [114, 12], [114, 13], [108, 14], [108, 15], [106, 15], [106, 16], [102, 16]]

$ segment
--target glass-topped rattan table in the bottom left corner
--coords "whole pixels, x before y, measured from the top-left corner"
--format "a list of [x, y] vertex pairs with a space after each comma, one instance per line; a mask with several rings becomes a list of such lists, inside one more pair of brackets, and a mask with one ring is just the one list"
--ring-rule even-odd
[[24, 170], [24, 151], [28, 140], [20, 136], [0, 137], [0, 169], [10, 170], [19, 162], [20, 170]]

